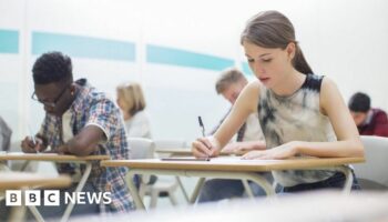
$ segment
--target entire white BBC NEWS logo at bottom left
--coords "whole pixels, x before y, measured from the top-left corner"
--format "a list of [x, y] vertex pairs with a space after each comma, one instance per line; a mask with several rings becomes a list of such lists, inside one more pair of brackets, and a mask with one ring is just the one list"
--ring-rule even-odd
[[[62, 196], [61, 196], [62, 194]], [[60, 199], [64, 204], [110, 204], [111, 192], [64, 192], [59, 190], [7, 190], [6, 205], [60, 205]]]

